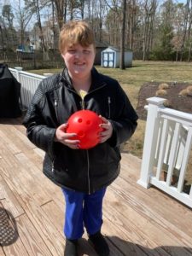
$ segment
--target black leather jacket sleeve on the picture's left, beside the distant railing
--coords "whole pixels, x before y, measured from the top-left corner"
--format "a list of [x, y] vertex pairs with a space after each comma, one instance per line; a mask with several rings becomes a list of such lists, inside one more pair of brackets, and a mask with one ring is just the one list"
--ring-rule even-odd
[[44, 106], [46, 97], [44, 93], [44, 80], [39, 84], [35, 95], [32, 98], [30, 107], [26, 112], [23, 125], [26, 126], [26, 136], [38, 148], [52, 154], [52, 148], [55, 137], [55, 127], [49, 124], [49, 118], [46, 117]]

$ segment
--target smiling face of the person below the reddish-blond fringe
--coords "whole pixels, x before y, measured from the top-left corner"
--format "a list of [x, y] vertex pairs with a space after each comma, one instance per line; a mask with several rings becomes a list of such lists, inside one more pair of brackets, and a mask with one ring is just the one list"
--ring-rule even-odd
[[89, 79], [90, 70], [95, 59], [93, 44], [84, 47], [81, 44], [74, 44], [67, 47], [62, 54], [71, 79]]

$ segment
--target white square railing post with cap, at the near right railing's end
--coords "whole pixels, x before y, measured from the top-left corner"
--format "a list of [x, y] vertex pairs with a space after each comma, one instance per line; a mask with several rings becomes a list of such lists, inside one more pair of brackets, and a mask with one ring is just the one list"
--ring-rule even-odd
[[163, 102], [166, 99], [159, 97], [151, 97], [147, 99], [148, 102], [148, 118], [145, 129], [145, 138], [143, 146], [143, 161], [141, 168], [140, 179], [138, 184], [148, 189], [149, 177], [153, 172], [154, 154], [157, 143], [158, 131], [160, 127], [159, 108], [163, 108]]

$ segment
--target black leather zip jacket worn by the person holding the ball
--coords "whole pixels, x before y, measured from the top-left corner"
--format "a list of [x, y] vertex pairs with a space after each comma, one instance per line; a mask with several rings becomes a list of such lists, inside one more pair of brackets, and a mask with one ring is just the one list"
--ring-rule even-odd
[[[44, 79], [28, 108], [23, 124], [27, 137], [45, 151], [44, 174], [54, 183], [93, 193], [119, 175], [119, 145], [137, 127], [137, 113], [118, 82], [93, 68], [92, 84], [84, 102], [73, 89], [67, 69]], [[55, 143], [55, 129], [84, 106], [109, 119], [113, 135], [90, 149], [72, 149]]]

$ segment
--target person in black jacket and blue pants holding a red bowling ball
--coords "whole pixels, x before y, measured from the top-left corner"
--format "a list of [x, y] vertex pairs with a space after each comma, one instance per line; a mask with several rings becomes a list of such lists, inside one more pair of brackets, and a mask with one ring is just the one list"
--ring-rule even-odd
[[[119, 146], [137, 127], [137, 113], [119, 83], [93, 67], [94, 34], [84, 21], [70, 21], [60, 33], [66, 67], [38, 86], [24, 125], [27, 137], [45, 151], [44, 174], [61, 186], [66, 201], [65, 256], [78, 255], [84, 234], [100, 256], [108, 256], [102, 236], [102, 201], [107, 186], [119, 175]], [[67, 120], [80, 109], [102, 118], [100, 143], [80, 149], [76, 134], [67, 133]]]

